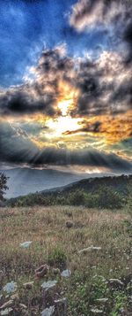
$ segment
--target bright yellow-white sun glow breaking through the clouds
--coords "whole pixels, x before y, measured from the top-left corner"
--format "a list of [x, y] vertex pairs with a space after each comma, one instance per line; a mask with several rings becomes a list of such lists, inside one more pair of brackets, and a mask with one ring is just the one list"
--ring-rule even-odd
[[[66, 135], [65, 132], [76, 131], [82, 118], [73, 118], [70, 112], [77, 107], [78, 90], [71, 87], [68, 82], [60, 82], [59, 84], [59, 96], [55, 104], [55, 110], [57, 115], [55, 118], [44, 117], [41, 115], [37, 118], [41, 124], [43, 123], [46, 128], [40, 133], [42, 142], [49, 142], [55, 145], [58, 142], [68, 143], [71, 139], [70, 135]], [[58, 114], [59, 113], [59, 114]], [[40, 144], [41, 145], [41, 144]]]

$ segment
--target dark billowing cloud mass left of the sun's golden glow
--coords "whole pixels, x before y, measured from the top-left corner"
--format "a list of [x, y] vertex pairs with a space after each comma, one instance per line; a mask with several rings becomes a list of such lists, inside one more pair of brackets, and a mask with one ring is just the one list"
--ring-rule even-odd
[[1, 115], [24, 115], [43, 112], [55, 116], [55, 103], [59, 95], [59, 81], [70, 81], [73, 61], [63, 56], [63, 47], [43, 51], [34, 80], [21, 86], [4, 89], [0, 94]]

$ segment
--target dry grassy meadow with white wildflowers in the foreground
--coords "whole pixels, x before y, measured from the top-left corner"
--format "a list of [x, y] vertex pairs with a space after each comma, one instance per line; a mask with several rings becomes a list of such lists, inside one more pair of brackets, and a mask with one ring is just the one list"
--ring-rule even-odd
[[[7, 303], [1, 315], [39, 316], [53, 305], [58, 316], [132, 315], [132, 222], [126, 212], [38, 206], [1, 208], [0, 218], [1, 306]], [[20, 246], [27, 241], [33, 243]], [[48, 271], [40, 277], [35, 269], [44, 264]], [[61, 275], [65, 269], [69, 277]], [[55, 287], [42, 289], [54, 280]], [[8, 294], [3, 289], [11, 281], [17, 288]], [[65, 313], [66, 304], [55, 302], [64, 297]]]

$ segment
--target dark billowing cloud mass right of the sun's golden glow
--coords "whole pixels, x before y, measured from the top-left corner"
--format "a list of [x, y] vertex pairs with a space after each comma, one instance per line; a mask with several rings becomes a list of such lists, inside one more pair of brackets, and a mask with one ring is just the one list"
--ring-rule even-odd
[[117, 52], [104, 51], [96, 61], [82, 61], [77, 72], [80, 94], [71, 115], [120, 114], [132, 108], [131, 66]]

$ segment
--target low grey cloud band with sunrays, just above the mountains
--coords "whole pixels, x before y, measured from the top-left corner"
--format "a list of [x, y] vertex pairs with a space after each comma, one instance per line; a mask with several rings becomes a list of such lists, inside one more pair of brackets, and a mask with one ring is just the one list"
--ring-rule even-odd
[[66, 150], [46, 148], [38, 149], [28, 136], [19, 135], [18, 130], [8, 123], [0, 126], [1, 154], [0, 160], [12, 163], [28, 163], [33, 166], [51, 165], [84, 165], [108, 167], [112, 171], [131, 171], [131, 163], [114, 154], [92, 150]]

